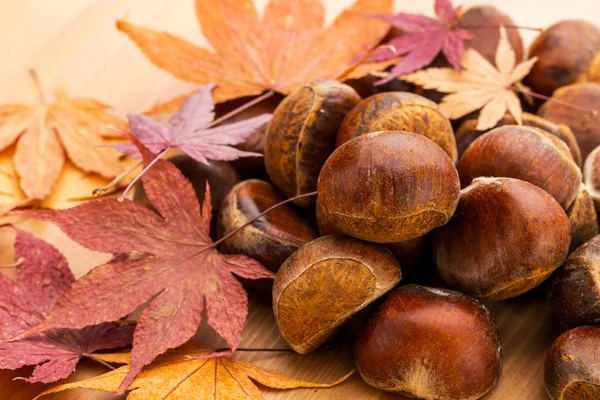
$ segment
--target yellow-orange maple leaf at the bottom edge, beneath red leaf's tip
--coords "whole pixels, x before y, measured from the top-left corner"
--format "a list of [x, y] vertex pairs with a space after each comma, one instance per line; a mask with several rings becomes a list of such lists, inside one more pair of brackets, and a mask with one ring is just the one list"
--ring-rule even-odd
[[[254, 382], [273, 389], [327, 388], [343, 382], [353, 372], [332, 383], [306, 382], [229, 357], [207, 359], [210, 352], [193, 344], [169, 351], [144, 368], [131, 382], [127, 387], [131, 391], [131, 398], [259, 400], [263, 396]], [[58, 385], [41, 393], [36, 399], [68, 389], [116, 392], [128, 371], [129, 367], [123, 366], [95, 378]]]

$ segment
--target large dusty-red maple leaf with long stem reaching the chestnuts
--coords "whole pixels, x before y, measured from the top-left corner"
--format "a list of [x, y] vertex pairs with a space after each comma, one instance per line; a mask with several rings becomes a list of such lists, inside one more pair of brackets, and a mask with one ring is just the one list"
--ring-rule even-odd
[[[154, 155], [135, 143], [147, 166]], [[209, 236], [208, 188], [200, 212], [192, 185], [170, 162], [158, 159], [142, 179], [159, 214], [115, 199], [61, 211], [15, 212], [53, 222], [92, 250], [146, 254], [93, 269], [73, 284], [42, 324], [28, 332], [115, 321], [149, 302], [135, 329], [132, 367], [123, 389], [157, 355], [194, 335], [205, 305], [208, 324], [235, 350], [248, 314], [248, 296], [234, 274], [273, 277], [258, 261], [217, 252]]]

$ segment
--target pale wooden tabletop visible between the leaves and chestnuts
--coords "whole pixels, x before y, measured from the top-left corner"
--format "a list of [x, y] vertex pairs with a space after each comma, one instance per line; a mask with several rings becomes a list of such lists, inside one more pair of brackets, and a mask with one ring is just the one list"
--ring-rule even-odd
[[[545, 27], [559, 19], [585, 18], [600, 24], [596, 0], [491, 0], [511, 15], [518, 25]], [[266, 0], [256, 1], [260, 10]], [[328, 20], [351, 0], [328, 0]], [[398, 10], [431, 14], [433, 0], [396, 0]], [[460, 3], [460, 1], [457, 1]], [[466, 1], [465, 4], [474, 2]], [[155, 68], [123, 34], [114, 28], [116, 18], [154, 29], [166, 30], [198, 43], [192, 0], [20, 0], [0, 1], [0, 103], [36, 101], [36, 90], [27, 70], [35, 68], [51, 92], [64, 87], [71, 95], [93, 96], [121, 113], [140, 112], [159, 100], [185, 93], [193, 86]], [[535, 36], [523, 34], [526, 42]], [[55, 227], [32, 221], [16, 221], [54, 243], [76, 274], [81, 276], [107, 259], [107, 255], [83, 249]], [[10, 245], [0, 241], [0, 262], [11, 258]], [[542, 365], [545, 352], [561, 333], [538, 289], [516, 299], [488, 304], [500, 329], [504, 349], [504, 372], [499, 385], [485, 398], [544, 399]], [[358, 320], [354, 322], [354, 325]], [[300, 356], [290, 352], [238, 353], [236, 357], [290, 375], [318, 382], [333, 380], [353, 368], [352, 324], [337, 338], [338, 345]], [[199, 336], [211, 335], [201, 329]], [[275, 327], [269, 301], [256, 297], [244, 333], [244, 347], [282, 348], [285, 343]], [[11, 381], [29, 371], [0, 373], [0, 398], [28, 400], [44, 385]], [[68, 380], [105, 372], [81, 362]], [[333, 389], [264, 390], [267, 399], [400, 399], [372, 389], [355, 374]], [[108, 399], [113, 395], [77, 390], [47, 399]]]

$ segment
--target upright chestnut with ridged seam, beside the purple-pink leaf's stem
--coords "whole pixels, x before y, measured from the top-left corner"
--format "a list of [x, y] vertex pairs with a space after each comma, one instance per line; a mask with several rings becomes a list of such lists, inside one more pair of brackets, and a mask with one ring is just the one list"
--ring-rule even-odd
[[[267, 128], [265, 167], [287, 197], [315, 191], [346, 114], [360, 101], [350, 86], [331, 80], [305, 84], [277, 106]], [[308, 206], [313, 198], [294, 201]]]

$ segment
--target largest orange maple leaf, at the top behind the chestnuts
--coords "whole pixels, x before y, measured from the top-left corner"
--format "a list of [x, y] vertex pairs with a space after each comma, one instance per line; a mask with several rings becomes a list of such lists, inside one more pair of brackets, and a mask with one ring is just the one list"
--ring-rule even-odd
[[[196, 0], [196, 16], [214, 52], [164, 32], [117, 21], [159, 68], [185, 81], [214, 83], [216, 103], [265, 90], [288, 94], [306, 82], [335, 79], [375, 47], [389, 25], [363, 17], [390, 13], [392, 0], [358, 0], [324, 27], [321, 0], [271, 0], [260, 20], [252, 0]], [[358, 78], [383, 65], [365, 65]], [[183, 98], [150, 110], [175, 111]]]

